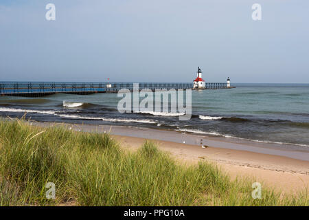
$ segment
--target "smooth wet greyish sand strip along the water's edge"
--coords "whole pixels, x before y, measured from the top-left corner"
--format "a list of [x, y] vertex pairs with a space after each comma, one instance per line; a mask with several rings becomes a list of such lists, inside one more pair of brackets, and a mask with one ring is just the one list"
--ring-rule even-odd
[[[36, 124], [73, 124], [65, 122], [37, 122]], [[288, 144], [276, 144], [266, 142], [255, 142], [241, 138], [222, 137], [217, 135], [197, 134], [183, 131], [173, 131], [168, 129], [153, 129], [141, 126], [120, 126], [103, 124], [73, 124], [76, 131], [87, 132], [110, 132], [113, 135], [123, 135], [129, 137], [145, 137], [148, 139], [176, 142], [179, 144], [190, 144], [201, 146], [212, 146], [215, 148], [225, 148], [238, 151], [249, 151], [262, 153], [265, 155], [277, 155], [309, 162], [309, 149]], [[72, 128], [73, 128], [72, 127]], [[203, 141], [201, 141], [203, 140]]]

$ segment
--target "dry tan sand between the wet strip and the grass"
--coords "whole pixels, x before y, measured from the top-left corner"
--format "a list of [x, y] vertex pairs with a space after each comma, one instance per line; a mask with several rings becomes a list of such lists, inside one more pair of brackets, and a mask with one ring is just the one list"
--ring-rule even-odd
[[[146, 141], [141, 137], [120, 135], [113, 135], [113, 137], [122, 143], [123, 148], [137, 149]], [[309, 162], [306, 161], [211, 146], [202, 148], [190, 144], [153, 141], [158, 144], [161, 150], [170, 152], [181, 162], [189, 164], [203, 160], [214, 162], [232, 179], [251, 177], [253, 182], [258, 181], [286, 193], [296, 193], [308, 189]]]

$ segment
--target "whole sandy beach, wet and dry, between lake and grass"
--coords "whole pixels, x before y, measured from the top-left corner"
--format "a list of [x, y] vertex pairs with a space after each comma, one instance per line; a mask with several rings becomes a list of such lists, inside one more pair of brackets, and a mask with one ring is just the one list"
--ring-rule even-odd
[[[42, 122], [32, 122], [32, 124], [36, 126], [59, 125], [56, 123]], [[202, 148], [198, 143], [190, 144], [193, 142], [191, 135], [178, 134], [174, 131], [154, 131], [154, 129], [87, 124], [65, 124], [65, 126], [75, 131], [111, 133], [112, 137], [121, 143], [122, 148], [133, 151], [139, 148], [146, 140], [153, 140], [161, 150], [168, 151], [179, 162], [194, 164], [205, 160], [220, 166], [232, 179], [236, 177], [251, 178], [252, 181], [264, 183], [266, 186], [284, 193], [295, 194], [308, 190], [309, 157], [306, 152], [288, 152], [285, 150], [277, 153], [279, 151], [278, 149], [259, 149], [261, 152], [269, 151], [274, 153], [275, 151], [278, 154], [271, 155], [254, 152], [257, 151], [255, 148], [259, 148], [258, 146], [254, 146], [255, 144], [252, 144], [253, 146], [244, 146], [242, 144], [243, 149], [239, 150], [232, 148], [233, 146], [237, 146], [235, 143], [229, 143], [227, 140], [216, 140], [214, 137], [208, 137], [210, 143], [214, 143], [214, 146], [203, 143], [206, 147]], [[160, 138], [157, 138], [158, 134], [161, 135]], [[178, 135], [181, 135], [181, 137]], [[164, 140], [166, 138], [170, 140]], [[196, 137], [196, 140], [199, 140], [199, 138]], [[203, 137], [203, 142], [207, 142], [207, 140], [207, 137]], [[222, 147], [218, 147], [220, 144]], [[304, 159], [292, 158], [298, 154], [303, 155]]]

